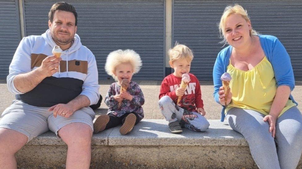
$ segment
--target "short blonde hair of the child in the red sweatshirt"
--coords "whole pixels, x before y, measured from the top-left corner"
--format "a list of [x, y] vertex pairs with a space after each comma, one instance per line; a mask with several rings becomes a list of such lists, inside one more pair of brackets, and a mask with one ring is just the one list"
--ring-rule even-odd
[[188, 46], [176, 43], [175, 46], [168, 51], [170, 61], [173, 63], [177, 59], [186, 59], [192, 62], [194, 56], [193, 52]]

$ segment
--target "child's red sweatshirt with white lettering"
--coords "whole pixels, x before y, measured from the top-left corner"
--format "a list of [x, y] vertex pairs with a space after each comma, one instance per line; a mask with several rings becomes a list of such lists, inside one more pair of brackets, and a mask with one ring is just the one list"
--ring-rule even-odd
[[[189, 82], [185, 93], [180, 100], [180, 107], [188, 110], [195, 111], [197, 108], [203, 108], [203, 101], [201, 99], [201, 89], [200, 84], [196, 76], [189, 73], [191, 81]], [[175, 90], [179, 87], [181, 83], [181, 78], [176, 77], [172, 74], [166, 76], [161, 84], [161, 89], [159, 93], [159, 99], [162, 96], [169, 96], [175, 104], [177, 104], [178, 97], [175, 94]]]

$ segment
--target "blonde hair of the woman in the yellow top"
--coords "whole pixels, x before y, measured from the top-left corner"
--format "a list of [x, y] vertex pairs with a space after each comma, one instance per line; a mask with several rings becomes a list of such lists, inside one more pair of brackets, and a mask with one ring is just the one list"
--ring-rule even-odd
[[[226, 8], [224, 9], [224, 12], [221, 16], [220, 19], [220, 23], [219, 23], [219, 33], [220, 33], [220, 38], [223, 38], [223, 40], [221, 41], [221, 43], [226, 44], [226, 37], [224, 36], [224, 28], [225, 28], [225, 24], [226, 24], [226, 18], [232, 14], [240, 14], [242, 16], [242, 18], [244, 18], [244, 20], [246, 20], [247, 22], [250, 21], [250, 18], [248, 17], [248, 12], [246, 10], [243, 9], [242, 6], [235, 4], [233, 6], [226, 6]], [[258, 35], [258, 33], [256, 32], [256, 30], [253, 30], [252, 28], [250, 29], [250, 36], [252, 35]]]

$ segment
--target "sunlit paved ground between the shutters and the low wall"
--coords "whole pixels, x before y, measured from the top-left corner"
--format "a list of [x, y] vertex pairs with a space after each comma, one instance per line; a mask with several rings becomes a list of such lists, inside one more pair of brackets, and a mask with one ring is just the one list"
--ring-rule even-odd
[[[99, 81], [100, 93], [105, 98], [107, 90], [113, 81]], [[161, 81], [136, 81], [139, 83], [144, 96], [145, 104], [143, 105], [145, 112], [145, 119], [164, 119], [163, 115], [158, 109], [158, 94], [160, 89]], [[213, 98], [213, 82], [202, 81], [201, 83], [202, 99], [205, 104], [205, 111], [207, 119], [220, 119], [221, 106], [219, 106]], [[302, 81], [296, 81], [296, 88], [292, 92], [295, 100], [300, 104], [298, 106], [299, 110], [302, 112]], [[14, 99], [6, 87], [6, 82], [4, 80], [0, 81], [0, 113], [5, 110], [11, 104]], [[97, 109], [96, 114], [106, 114], [107, 106], [104, 102], [101, 103], [101, 107]]]

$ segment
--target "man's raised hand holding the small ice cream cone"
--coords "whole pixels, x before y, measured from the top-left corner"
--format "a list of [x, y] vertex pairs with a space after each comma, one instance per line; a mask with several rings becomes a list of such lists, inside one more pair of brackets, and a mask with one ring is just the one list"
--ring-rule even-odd
[[59, 69], [60, 61], [62, 58], [56, 58], [54, 55], [53, 56], [47, 56], [43, 61], [40, 67], [37, 69], [39, 72], [45, 76], [49, 77], [55, 74]]

